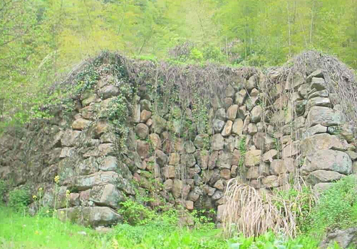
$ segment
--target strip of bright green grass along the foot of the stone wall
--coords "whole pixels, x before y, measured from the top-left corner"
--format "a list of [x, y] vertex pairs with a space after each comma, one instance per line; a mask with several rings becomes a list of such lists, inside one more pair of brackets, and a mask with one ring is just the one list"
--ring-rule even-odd
[[[85, 235], [82, 233], [85, 232]], [[273, 233], [258, 238], [226, 240], [221, 231], [201, 224], [199, 228], [179, 228], [158, 218], [143, 226], [119, 224], [111, 233], [62, 223], [52, 217], [26, 216], [0, 206], [1, 249], [297, 249], [317, 248], [304, 237], [284, 240]]]

